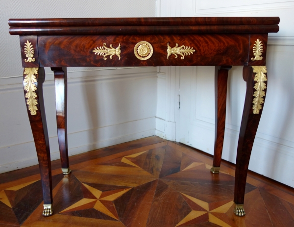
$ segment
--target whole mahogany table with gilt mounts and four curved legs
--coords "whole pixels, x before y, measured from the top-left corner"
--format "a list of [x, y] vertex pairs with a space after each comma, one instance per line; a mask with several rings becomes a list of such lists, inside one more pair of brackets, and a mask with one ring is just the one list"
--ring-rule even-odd
[[234, 213], [244, 216], [248, 164], [267, 91], [268, 33], [278, 32], [279, 21], [278, 17], [10, 19], [10, 34], [20, 35], [25, 102], [43, 185], [43, 215], [52, 214], [49, 138], [42, 91], [44, 67], [54, 72], [61, 165], [64, 175], [68, 175], [66, 67], [216, 66], [211, 172], [217, 174], [228, 71], [233, 65], [242, 65], [247, 88], [237, 149]]

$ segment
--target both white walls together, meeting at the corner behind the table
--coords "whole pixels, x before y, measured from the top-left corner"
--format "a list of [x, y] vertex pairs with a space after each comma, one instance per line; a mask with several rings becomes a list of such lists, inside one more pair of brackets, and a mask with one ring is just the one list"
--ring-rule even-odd
[[[269, 38], [268, 93], [249, 169], [294, 187], [293, 6], [290, 0], [261, 0], [258, 4], [253, 0], [1, 0], [0, 173], [37, 164], [25, 110], [19, 37], [9, 35], [9, 18], [153, 17], [155, 12], [160, 17], [279, 16], [280, 31]], [[53, 75], [49, 69], [46, 72], [50, 150], [52, 159], [57, 159]], [[213, 67], [69, 68], [70, 155], [155, 133], [212, 153], [213, 72]], [[231, 162], [236, 158], [245, 98], [241, 73], [242, 67], [233, 67], [229, 74], [223, 158]], [[191, 84], [195, 84], [195, 93], [191, 93]], [[183, 111], [192, 102], [193, 108]], [[186, 124], [191, 116], [194, 128]], [[200, 139], [193, 144], [188, 141], [189, 133]]]

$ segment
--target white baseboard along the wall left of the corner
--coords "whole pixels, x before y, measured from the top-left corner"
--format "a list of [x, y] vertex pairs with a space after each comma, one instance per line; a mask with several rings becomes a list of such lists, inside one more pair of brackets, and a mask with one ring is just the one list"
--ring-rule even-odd
[[[69, 156], [155, 135], [155, 117], [94, 128], [68, 135]], [[94, 141], [95, 140], [95, 141]], [[57, 137], [49, 138], [51, 160], [60, 158]], [[15, 161], [0, 166], [0, 173], [38, 164], [33, 141], [0, 148], [1, 158], [18, 153]]]

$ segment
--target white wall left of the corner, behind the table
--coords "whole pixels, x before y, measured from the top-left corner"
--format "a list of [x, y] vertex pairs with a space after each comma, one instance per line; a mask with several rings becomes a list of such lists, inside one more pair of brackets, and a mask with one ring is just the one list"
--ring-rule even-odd
[[[155, 0], [1, 0], [0, 173], [38, 163], [29, 125], [19, 36], [9, 18], [154, 17]], [[51, 159], [59, 158], [54, 77], [46, 68], [44, 99]], [[69, 154], [155, 134], [157, 68], [68, 69]]]

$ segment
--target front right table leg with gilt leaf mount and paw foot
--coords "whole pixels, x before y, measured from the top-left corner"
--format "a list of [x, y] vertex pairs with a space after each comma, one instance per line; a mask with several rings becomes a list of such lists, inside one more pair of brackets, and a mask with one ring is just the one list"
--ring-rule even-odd
[[239, 134], [236, 174], [235, 209], [237, 216], [244, 216], [246, 177], [251, 150], [260, 121], [267, 91], [267, 68], [265, 66], [244, 66], [243, 78], [247, 83], [245, 104]]

